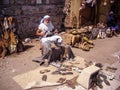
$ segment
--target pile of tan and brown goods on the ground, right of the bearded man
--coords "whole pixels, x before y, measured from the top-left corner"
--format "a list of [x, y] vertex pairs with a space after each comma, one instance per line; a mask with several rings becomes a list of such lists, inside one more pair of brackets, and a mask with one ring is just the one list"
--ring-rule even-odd
[[72, 47], [80, 48], [84, 51], [89, 51], [94, 47], [94, 43], [92, 41], [92, 32], [89, 27], [84, 27], [81, 29], [72, 29], [66, 30], [64, 34], [64, 42]]

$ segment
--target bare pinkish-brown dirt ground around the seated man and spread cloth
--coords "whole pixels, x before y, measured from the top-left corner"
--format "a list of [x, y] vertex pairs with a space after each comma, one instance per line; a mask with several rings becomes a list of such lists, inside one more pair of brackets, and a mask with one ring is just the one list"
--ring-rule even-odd
[[[113, 57], [115, 52], [120, 51], [120, 35], [118, 37], [97, 39], [93, 41], [95, 46], [89, 52], [72, 48], [76, 56], [85, 58], [88, 61], [113, 64], [118, 58]], [[12, 54], [5, 59], [0, 59], [0, 90], [23, 90], [12, 78], [18, 74], [36, 69], [38, 63], [32, 59], [40, 56], [37, 39], [26, 43], [26, 50], [19, 54]], [[39, 88], [34, 90], [52, 90], [52, 88]]]

